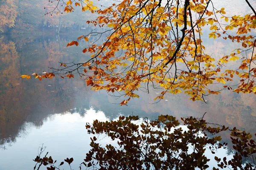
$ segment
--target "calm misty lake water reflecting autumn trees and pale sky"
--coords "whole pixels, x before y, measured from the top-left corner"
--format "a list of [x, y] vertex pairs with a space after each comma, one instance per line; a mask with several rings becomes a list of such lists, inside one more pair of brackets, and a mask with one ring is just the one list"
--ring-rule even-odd
[[[185, 94], [167, 94], [159, 103], [151, 104], [158, 91], [139, 92], [128, 106], [119, 106], [122, 99], [105, 91], [95, 92], [79, 78], [21, 79], [22, 74], [50, 71], [58, 62], [80, 62], [89, 58], [83, 46], [66, 47], [79, 37], [74, 34], [56, 36], [13, 35], [0, 37], [0, 170], [30, 170], [38, 147], [44, 143], [57, 160], [73, 157], [79, 164], [89, 149], [90, 135], [86, 122], [111, 120], [120, 114], [155, 119], [160, 114], [177, 118], [201, 117], [208, 122], [237, 127], [255, 133], [256, 96], [222, 91], [206, 98], [207, 103], [192, 102]], [[223, 54], [223, 42], [207, 42]], [[226, 137], [225, 137], [226, 136]], [[224, 134], [223, 142], [229, 142]], [[76, 167], [73, 167], [74, 169]]]

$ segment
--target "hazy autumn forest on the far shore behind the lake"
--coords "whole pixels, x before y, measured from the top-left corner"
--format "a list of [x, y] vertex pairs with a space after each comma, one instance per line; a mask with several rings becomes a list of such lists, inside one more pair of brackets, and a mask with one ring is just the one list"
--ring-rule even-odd
[[0, 8], [0, 34], [41, 35], [45, 34], [43, 30], [57, 33], [79, 31], [81, 28], [86, 30], [90, 27], [86, 21], [97, 17], [81, 10], [75, 10], [74, 15], [47, 15], [51, 10], [51, 3], [47, 0], [0, 0]]

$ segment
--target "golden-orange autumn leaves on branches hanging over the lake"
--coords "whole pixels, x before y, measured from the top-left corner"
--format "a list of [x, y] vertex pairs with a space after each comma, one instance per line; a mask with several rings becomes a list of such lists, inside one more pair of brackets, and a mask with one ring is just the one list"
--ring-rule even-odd
[[[68, 0], [64, 11], [73, 11], [73, 2], [76, 1]], [[107, 26], [110, 34], [104, 43], [93, 43], [84, 48], [83, 53], [92, 53], [91, 59], [77, 64], [77, 68], [66, 73], [66, 77], [72, 77], [80, 68], [90, 70], [92, 74], [79, 74], [87, 85], [95, 91], [104, 89], [113, 95], [127, 96], [121, 105], [126, 105], [133, 97], [139, 97], [135, 94], [139, 88], [148, 91], [149, 85], [163, 89], [155, 100], [163, 99], [167, 92], [178, 94], [183, 91], [193, 101], [204, 101], [204, 96], [219, 94], [223, 90], [211, 90], [209, 85], [229, 84], [236, 75], [240, 78], [240, 84], [233, 91], [256, 93], [256, 39], [251, 33], [256, 28], [256, 12], [252, 8], [253, 13], [229, 16], [225, 8], [209, 11], [212, 5], [208, 0], [185, 0], [183, 3], [168, 0], [166, 5], [161, 0], [134, 0], [132, 3], [124, 0], [97, 10], [92, 1], [85, 0], [81, 2], [81, 10], [92, 13], [97, 10], [99, 15], [96, 20], [87, 23]], [[222, 23], [225, 23], [225, 27]], [[221, 59], [211, 57], [202, 38], [203, 31], [208, 29], [212, 30], [209, 38], [236, 42], [241, 48], [235, 49], [236, 53], [223, 54]], [[88, 41], [90, 36], [99, 34], [103, 33], [83, 35], [67, 46], [78, 46], [78, 41], [83, 37]], [[251, 55], [247, 55], [247, 52], [251, 52]], [[240, 62], [240, 66], [225, 71], [229, 62]], [[73, 67], [73, 63], [67, 64], [66, 68], [70, 67]], [[42, 78], [47, 76], [42, 75]], [[231, 86], [224, 85], [223, 88], [230, 89]]]

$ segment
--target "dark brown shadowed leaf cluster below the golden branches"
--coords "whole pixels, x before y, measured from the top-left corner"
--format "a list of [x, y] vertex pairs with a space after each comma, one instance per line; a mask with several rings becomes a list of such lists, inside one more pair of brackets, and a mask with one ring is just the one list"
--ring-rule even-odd
[[[102, 146], [97, 137], [93, 136], [90, 138], [91, 149], [80, 168], [84, 165], [89, 169], [101, 170], [207, 169], [210, 159], [205, 151], [209, 149], [215, 154], [218, 149], [227, 147], [227, 143], [221, 144], [221, 136], [211, 135], [230, 129], [221, 125], [212, 127], [204, 119], [193, 117], [182, 118], [182, 121], [186, 128], [181, 127], [179, 121], [169, 115], [161, 115], [151, 121], [147, 118], [139, 119], [138, 116], [119, 116], [118, 120], [111, 122], [95, 120], [92, 125], [86, 125], [88, 133], [104, 133], [116, 145]], [[236, 128], [230, 131], [236, 153], [230, 160], [215, 156], [218, 167], [214, 169], [252, 170], [255, 168], [256, 153], [253, 136]]]

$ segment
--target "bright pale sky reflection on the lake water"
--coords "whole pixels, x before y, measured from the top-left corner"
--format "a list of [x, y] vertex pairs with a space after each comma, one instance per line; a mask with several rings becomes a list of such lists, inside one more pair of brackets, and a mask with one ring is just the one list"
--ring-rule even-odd
[[[83, 114], [81, 115], [81, 113]], [[85, 154], [90, 150], [90, 138], [93, 137], [92, 134], [87, 133], [85, 124], [86, 122], [93, 123], [95, 119], [99, 121], [110, 120], [102, 111], [95, 111], [90, 108], [80, 113], [66, 112], [48, 116], [41, 126], [25, 122], [23, 127], [26, 128], [28, 134], [17, 137], [17, 142], [13, 146], [2, 151], [0, 155], [0, 170], [9, 169], [11, 160], [15, 160], [15, 164], [12, 164], [12, 170], [33, 169], [35, 164], [33, 164], [32, 159], [35, 159], [38, 154], [38, 148], [42, 143], [47, 146], [43, 154], [49, 151], [49, 155], [57, 159], [58, 162], [64, 160], [67, 156], [73, 157], [72, 168], [76, 169], [85, 158]], [[140, 122], [141, 120], [137, 121], [136, 124], [139, 125]], [[183, 130], [188, 130], [184, 125], [180, 127]], [[111, 144], [118, 147], [116, 140], [112, 141], [105, 134], [97, 135], [97, 138], [99, 139], [98, 142], [103, 146]], [[192, 146], [189, 147], [189, 152], [192, 151], [192, 148]], [[28, 149], [30, 150], [29, 152], [27, 152]], [[207, 149], [205, 155], [210, 159], [208, 162], [209, 169], [216, 166], [214, 156], [218, 156], [218, 158], [226, 156], [227, 160], [233, 157], [232, 150], [223, 148], [219, 149], [214, 155], [211, 150]], [[65, 165], [62, 168], [69, 169]]]

